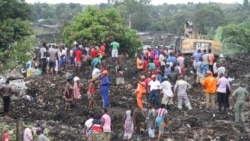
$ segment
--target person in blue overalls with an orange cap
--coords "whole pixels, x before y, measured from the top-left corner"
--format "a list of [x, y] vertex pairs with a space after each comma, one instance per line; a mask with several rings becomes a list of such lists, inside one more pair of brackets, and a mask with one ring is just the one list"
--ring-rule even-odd
[[108, 97], [108, 91], [109, 91], [109, 78], [108, 78], [108, 71], [104, 70], [102, 72], [101, 76], [101, 96], [103, 100], [103, 108], [108, 108], [109, 105], [109, 97]]

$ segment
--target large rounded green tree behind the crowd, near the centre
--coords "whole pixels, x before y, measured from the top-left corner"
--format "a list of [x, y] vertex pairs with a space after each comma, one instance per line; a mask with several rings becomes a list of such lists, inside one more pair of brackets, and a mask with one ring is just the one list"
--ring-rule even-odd
[[135, 52], [142, 45], [137, 32], [123, 25], [115, 9], [89, 7], [74, 17], [72, 24], [64, 29], [63, 37], [67, 44], [78, 41], [87, 45], [110, 44], [115, 39], [120, 42], [121, 50], [129, 53]]

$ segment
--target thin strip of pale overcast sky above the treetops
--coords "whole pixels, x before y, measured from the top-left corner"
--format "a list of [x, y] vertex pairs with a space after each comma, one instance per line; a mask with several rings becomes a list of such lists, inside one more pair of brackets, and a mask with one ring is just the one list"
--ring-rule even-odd
[[[28, 3], [81, 3], [81, 4], [99, 4], [107, 3], [107, 0], [26, 0]], [[176, 3], [207, 3], [207, 2], [219, 2], [219, 3], [242, 3], [242, 0], [152, 0], [151, 4], [159, 5], [163, 3], [176, 4]]]

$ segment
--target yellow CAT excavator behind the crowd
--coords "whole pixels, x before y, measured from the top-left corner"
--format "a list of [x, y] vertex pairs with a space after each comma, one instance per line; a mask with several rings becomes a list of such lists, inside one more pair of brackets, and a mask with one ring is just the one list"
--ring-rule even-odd
[[221, 53], [221, 45], [213, 40], [200, 39], [199, 31], [193, 23], [186, 21], [184, 24], [184, 38], [178, 37], [175, 50], [180, 50], [183, 54], [193, 54], [197, 50], [210, 50], [216, 56]]

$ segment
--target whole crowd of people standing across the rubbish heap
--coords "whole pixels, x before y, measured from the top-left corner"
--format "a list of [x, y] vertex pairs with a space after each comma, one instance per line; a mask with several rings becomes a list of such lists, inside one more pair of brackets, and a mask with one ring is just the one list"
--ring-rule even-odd
[[[124, 84], [124, 69], [120, 65], [118, 50], [120, 44], [116, 41], [110, 43], [112, 48], [111, 58], [115, 62], [116, 84]], [[109, 69], [105, 58], [107, 57], [106, 44], [100, 46], [84, 47], [74, 43], [72, 49], [64, 45], [56, 47], [54, 45], [43, 44], [40, 48], [40, 64], [32, 61], [26, 66], [25, 76], [29, 77], [34, 71], [41, 70], [41, 74], [55, 74], [66, 70], [69, 67], [74, 68], [75, 75], [67, 79], [64, 91], [65, 110], [72, 110], [72, 104], [79, 104], [82, 99], [80, 79], [82, 65], [91, 66], [92, 77], [88, 81], [87, 97], [88, 108], [91, 110], [97, 108], [95, 101], [97, 86], [100, 86], [100, 96], [102, 97], [102, 114], [92, 114], [84, 124], [83, 138], [88, 141], [110, 141], [111, 138], [111, 118], [108, 114], [109, 109]], [[190, 63], [192, 62], [192, 63]], [[189, 100], [188, 93], [191, 87], [203, 89], [206, 108], [204, 110], [215, 112], [217, 96], [218, 111], [226, 113], [229, 110], [229, 96], [232, 93], [235, 99], [235, 121], [245, 121], [244, 101], [249, 94], [245, 84], [233, 91], [232, 81], [228, 76], [227, 62], [223, 54], [216, 58], [211, 50], [198, 50], [191, 58], [185, 56], [181, 51], [175, 52], [173, 49], [166, 48], [148, 48], [142, 53], [138, 53], [136, 58], [135, 72], [138, 78], [137, 87], [134, 91], [134, 97], [137, 107], [141, 112], [146, 113], [147, 131], [149, 140], [161, 140], [161, 137], [167, 127], [167, 117], [171, 110], [177, 107], [180, 111], [195, 110]], [[195, 72], [195, 83], [188, 81], [188, 67], [192, 67], [191, 72]], [[8, 82], [2, 86], [4, 113], [8, 114], [10, 103], [11, 88]], [[200, 91], [199, 93], [201, 93]], [[175, 106], [177, 100], [177, 106]], [[183, 107], [183, 103], [185, 107]], [[211, 105], [211, 109], [210, 108]], [[131, 105], [124, 111], [124, 140], [131, 140], [135, 129], [135, 108]], [[42, 130], [37, 129], [38, 134]], [[27, 131], [28, 132], [28, 131]], [[156, 137], [155, 133], [158, 133]], [[30, 139], [31, 140], [31, 139]], [[24, 139], [24, 141], [30, 141]]]

